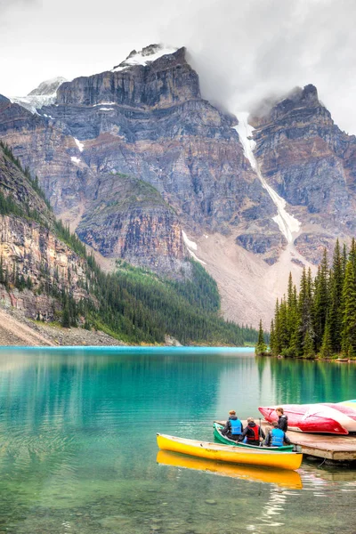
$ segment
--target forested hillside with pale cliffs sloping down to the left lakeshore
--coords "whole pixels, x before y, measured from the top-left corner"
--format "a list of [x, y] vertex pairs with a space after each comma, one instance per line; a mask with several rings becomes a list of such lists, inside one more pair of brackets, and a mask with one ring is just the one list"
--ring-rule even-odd
[[[193, 276], [185, 281], [165, 279], [123, 262], [117, 263], [115, 273], [103, 273], [77, 236], [55, 220], [36, 178], [22, 169], [5, 145], [0, 150], [0, 216], [4, 224], [0, 284], [8, 294], [14, 289], [28, 291], [36, 305], [44, 295], [51, 303], [46, 312], [49, 319], [60, 321], [62, 327], [97, 328], [127, 343], [163, 344], [166, 336], [182, 344], [255, 342], [254, 329], [239, 328], [219, 316], [216, 284], [199, 263], [191, 261]], [[5, 236], [14, 232], [15, 238], [6, 243]], [[36, 251], [27, 245], [34, 235]], [[44, 255], [49, 243], [54, 243], [51, 254]], [[16, 252], [19, 244], [21, 253]]]

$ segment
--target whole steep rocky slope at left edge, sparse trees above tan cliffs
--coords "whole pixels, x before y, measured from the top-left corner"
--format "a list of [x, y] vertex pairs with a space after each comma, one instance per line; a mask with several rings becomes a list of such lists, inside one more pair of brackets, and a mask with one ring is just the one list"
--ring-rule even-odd
[[53, 320], [61, 309], [48, 285], [76, 300], [87, 296], [85, 259], [58, 238], [53, 223], [36, 186], [0, 147], [0, 299], [33, 319]]

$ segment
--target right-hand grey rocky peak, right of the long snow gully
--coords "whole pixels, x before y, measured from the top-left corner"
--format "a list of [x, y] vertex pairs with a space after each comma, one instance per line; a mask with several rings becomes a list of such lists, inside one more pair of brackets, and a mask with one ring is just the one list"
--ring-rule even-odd
[[334, 124], [313, 85], [295, 89], [253, 122], [263, 176], [295, 206], [303, 223], [295, 246], [317, 262], [336, 235], [356, 231], [356, 138]]

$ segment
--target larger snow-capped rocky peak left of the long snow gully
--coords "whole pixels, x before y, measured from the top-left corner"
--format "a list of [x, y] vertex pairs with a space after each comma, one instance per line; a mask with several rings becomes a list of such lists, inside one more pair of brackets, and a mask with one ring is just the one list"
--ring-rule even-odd
[[[150, 60], [150, 52], [143, 57]], [[168, 263], [180, 271], [187, 254], [182, 225], [196, 234], [236, 235], [267, 227], [278, 239], [271, 198], [244, 157], [231, 117], [201, 99], [185, 50], [132, 63], [129, 57], [112, 71], [62, 83], [55, 103], [39, 115], [11, 102], [0, 113], [0, 134], [38, 175], [56, 213], [74, 226], [80, 222], [81, 239], [101, 254], [165, 272]], [[110, 208], [105, 222], [102, 215], [96, 220], [97, 239], [93, 213], [108, 174], [149, 183], [162, 202], [159, 210], [131, 202], [125, 223], [120, 210]], [[116, 180], [114, 197], [121, 187]]]

